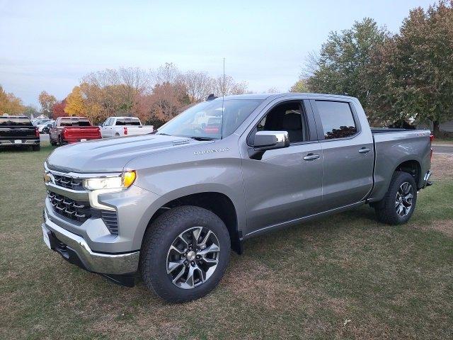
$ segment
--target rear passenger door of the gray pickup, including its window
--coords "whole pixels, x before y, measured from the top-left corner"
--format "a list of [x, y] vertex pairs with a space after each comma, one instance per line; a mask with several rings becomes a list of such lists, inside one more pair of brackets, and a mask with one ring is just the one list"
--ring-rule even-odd
[[371, 131], [360, 126], [352, 100], [310, 102], [323, 150], [323, 210], [358, 203], [373, 185]]

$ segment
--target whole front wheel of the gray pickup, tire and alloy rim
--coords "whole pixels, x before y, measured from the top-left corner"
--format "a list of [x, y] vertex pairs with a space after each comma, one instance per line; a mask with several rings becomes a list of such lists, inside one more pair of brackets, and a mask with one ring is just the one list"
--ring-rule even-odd
[[147, 229], [140, 251], [144, 285], [169, 302], [210, 293], [229, 263], [224, 222], [209, 210], [181, 206], [164, 212]]

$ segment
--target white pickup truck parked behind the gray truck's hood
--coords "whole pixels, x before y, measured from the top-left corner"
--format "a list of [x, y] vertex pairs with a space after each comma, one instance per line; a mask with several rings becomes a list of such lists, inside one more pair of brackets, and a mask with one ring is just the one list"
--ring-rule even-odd
[[135, 117], [110, 117], [101, 126], [103, 138], [145, 135], [154, 131], [153, 125], [142, 125]]

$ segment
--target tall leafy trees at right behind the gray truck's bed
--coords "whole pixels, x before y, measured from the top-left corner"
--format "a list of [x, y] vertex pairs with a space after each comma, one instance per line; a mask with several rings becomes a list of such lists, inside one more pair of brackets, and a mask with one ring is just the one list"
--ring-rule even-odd
[[357, 97], [374, 125], [453, 120], [453, 1], [415, 8], [398, 33], [372, 18], [332, 32], [292, 91]]

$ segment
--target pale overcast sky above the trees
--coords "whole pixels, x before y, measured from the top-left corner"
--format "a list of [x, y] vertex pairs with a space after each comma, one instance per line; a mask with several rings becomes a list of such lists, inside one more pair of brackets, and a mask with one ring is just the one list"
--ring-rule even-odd
[[0, 84], [38, 106], [62, 99], [98, 69], [165, 62], [226, 74], [251, 91], [287, 91], [329, 31], [369, 16], [396, 32], [434, 0], [18, 1], [0, 0]]

